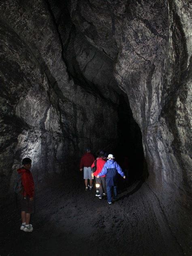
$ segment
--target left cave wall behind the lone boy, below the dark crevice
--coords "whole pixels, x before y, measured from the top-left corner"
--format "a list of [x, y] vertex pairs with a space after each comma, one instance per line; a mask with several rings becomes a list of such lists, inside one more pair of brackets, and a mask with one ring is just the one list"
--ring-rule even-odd
[[[35, 179], [41, 179], [47, 173], [77, 168], [76, 161], [87, 146], [93, 151], [114, 148], [118, 94], [103, 86], [103, 96], [78, 75], [74, 82], [47, 3], [2, 1], [0, 7], [0, 164], [5, 184], [10, 185], [15, 168], [26, 156], [33, 159]], [[107, 68], [103, 72], [112, 74]], [[109, 86], [110, 81], [105, 84]]]

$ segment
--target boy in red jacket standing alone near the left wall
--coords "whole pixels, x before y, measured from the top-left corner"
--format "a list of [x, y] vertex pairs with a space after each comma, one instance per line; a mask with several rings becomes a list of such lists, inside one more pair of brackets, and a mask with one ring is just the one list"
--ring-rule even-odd
[[31, 168], [31, 159], [26, 157], [22, 160], [22, 167], [17, 170], [18, 174], [21, 175], [21, 183], [23, 186], [23, 192], [20, 195], [21, 204], [21, 219], [22, 225], [20, 230], [25, 232], [32, 232], [33, 227], [30, 223], [31, 213], [34, 212], [34, 180]]

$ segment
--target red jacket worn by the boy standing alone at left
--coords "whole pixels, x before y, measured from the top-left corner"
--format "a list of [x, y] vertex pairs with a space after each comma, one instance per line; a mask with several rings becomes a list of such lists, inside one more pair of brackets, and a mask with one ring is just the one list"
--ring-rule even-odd
[[34, 180], [30, 170], [21, 167], [17, 170], [19, 174], [22, 174], [21, 181], [24, 188], [23, 196], [34, 197]]

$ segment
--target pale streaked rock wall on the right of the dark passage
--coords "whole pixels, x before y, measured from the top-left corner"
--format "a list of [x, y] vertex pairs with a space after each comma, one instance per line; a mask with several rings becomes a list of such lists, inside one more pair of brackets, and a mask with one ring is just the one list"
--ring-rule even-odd
[[130, 1], [115, 66], [118, 84], [128, 94], [142, 131], [147, 184], [185, 248], [183, 234], [191, 233], [188, 7], [182, 1]]

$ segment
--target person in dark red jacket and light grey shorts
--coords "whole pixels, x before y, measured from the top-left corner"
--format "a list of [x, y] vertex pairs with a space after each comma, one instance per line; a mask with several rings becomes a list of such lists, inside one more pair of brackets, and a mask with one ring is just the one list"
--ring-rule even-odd
[[[80, 161], [80, 171], [83, 170], [83, 178], [85, 180], [85, 190], [88, 190], [88, 187], [90, 190], [93, 188], [93, 172], [91, 169], [92, 163], [95, 161], [94, 156], [91, 154], [90, 148], [87, 148], [87, 152], [81, 157]], [[88, 179], [90, 180], [90, 185], [88, 185]]]

